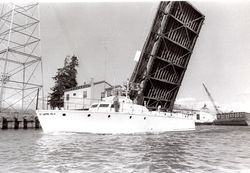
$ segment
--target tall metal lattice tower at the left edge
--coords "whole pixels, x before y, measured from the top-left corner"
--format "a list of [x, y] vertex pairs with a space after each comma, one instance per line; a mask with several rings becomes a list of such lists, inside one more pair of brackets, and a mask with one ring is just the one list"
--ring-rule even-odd
[[1, 112], [22, 110], [26, 113], [35, 108], [38, 91], [42, 88], [40, 49], [38, 3], [2, 4], [0, 14]]

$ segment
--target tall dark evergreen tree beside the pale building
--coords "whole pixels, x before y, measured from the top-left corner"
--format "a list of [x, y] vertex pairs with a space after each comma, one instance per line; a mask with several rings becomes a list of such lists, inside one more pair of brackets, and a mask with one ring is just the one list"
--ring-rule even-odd
[[48, 100], [52, 108], [63, 107], [64, 91], [77, 86], [76, 67], [78, 66], [78, 59], [75, 55], [72, 57], [67, 56], [64, 59], [64, 67], [58, 68], [56, 75], [52, 77], [52, 79], [55, 81], [55, 86], [51, 88], [52, 93], [49, 94], [50, 98]]

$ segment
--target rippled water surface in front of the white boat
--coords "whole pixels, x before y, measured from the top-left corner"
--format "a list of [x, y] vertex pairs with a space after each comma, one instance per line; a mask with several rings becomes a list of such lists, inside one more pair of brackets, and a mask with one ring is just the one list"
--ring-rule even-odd
[[0, 133], [1, 172], [250, 172], [250, 127], [159, 135]]

